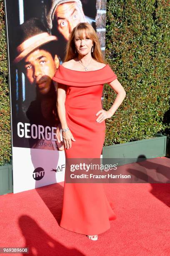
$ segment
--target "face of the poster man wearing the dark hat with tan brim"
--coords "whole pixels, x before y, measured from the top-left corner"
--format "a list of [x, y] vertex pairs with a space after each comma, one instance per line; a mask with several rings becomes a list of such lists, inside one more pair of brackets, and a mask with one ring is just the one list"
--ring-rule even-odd
[[50, 90], [52, 77], [59, 66], [57, 55], [52, 58], [50, 52], [37, 49], [25, 57], [24, 73], [31, 85], [36, 86], [41, 94]]

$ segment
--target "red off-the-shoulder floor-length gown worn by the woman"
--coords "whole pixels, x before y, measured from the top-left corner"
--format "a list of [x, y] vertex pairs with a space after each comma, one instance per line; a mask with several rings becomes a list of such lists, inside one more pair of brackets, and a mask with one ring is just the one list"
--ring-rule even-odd
[[[107, 64], [95, 71], [76, 71], [59, 66], [53, 80], [67, 85], [65, 112], [67, 125], [76, 141], [65, 148], [66, 158], [100, 158], [105, 140], [105, 120], [97, 123], [102, 109], [104, 83], [117, 78]], [[97, 235], [115, 220], [102, 183], [64, 183], [60, 226], [85, 235]]]

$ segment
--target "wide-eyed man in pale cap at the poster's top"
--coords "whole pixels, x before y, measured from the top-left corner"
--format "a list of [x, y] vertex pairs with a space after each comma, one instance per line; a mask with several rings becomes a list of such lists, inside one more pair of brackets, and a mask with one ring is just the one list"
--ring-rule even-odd
[[87, 17], [80, 0], [48, 0], [45, 17], [52, 34], [61, 34], [65, 41], [72, 29], [80, 22], [88, 22], [95, 28], [95, 19]]

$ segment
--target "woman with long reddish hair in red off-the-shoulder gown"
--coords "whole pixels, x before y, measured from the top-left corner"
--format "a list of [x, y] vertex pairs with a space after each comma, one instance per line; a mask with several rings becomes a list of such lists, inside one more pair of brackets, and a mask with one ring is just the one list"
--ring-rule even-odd
[[[105, 119], [122, 103], [125, 90], [103, 59], [97, 34], [89, 23], [79, 23], [73, 28], [65, 60], [53, 80], [57, 82], [57, 110], [66, 159], [100, 159]], [[109, 83], [117, 93], [108, 111], [103, 110], [101, 104], [104, 83]], [[97, 235], [108, 230], [110, 220], [115, 218], [102, 183], [65, 182], [62, 228], [97, 240]]]

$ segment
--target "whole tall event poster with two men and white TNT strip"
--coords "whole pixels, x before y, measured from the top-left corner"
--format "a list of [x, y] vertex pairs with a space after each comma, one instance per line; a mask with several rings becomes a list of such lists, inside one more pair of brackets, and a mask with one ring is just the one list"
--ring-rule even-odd
[[90, 23], [105, 54], [106, 0], [5, 0], [13, 192], [61, 182], [65, 154], [57, 83], [71, 28]]

